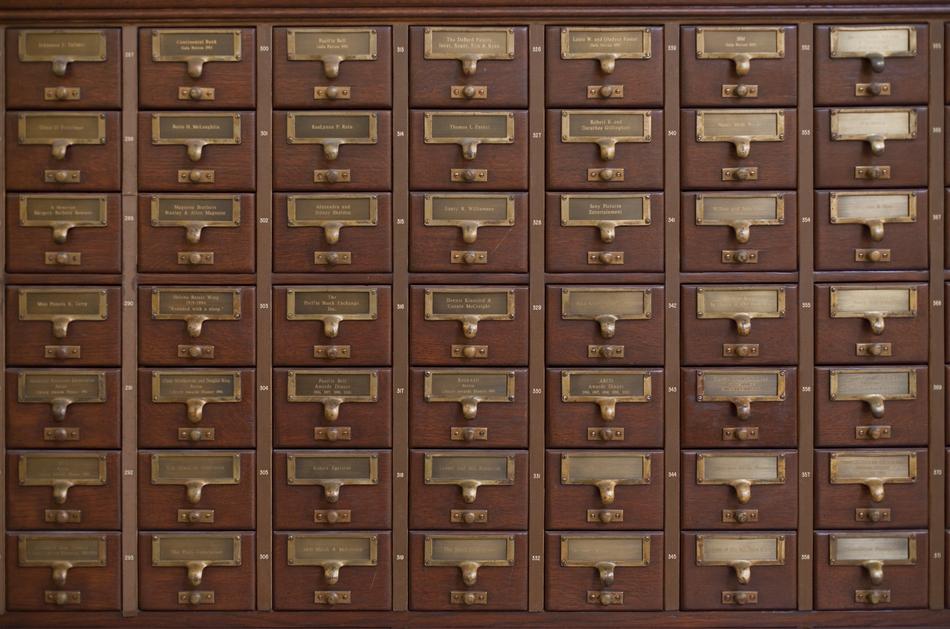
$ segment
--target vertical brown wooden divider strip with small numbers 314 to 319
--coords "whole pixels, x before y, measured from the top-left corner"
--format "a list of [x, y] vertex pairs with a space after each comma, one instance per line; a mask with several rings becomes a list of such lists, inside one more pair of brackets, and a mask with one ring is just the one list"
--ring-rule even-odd
[[409, 606], [409, 27], [393, 25], [393, 609]]

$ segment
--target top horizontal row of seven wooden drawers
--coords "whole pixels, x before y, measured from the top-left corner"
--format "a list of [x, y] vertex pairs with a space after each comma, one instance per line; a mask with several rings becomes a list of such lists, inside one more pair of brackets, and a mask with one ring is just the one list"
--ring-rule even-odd
[[[686, 26], [680, 36], [685, 105], [795, 105], [795, 26]], [[819, 104], [927, 102], [926, 25], [817, 26], [814, 37]], [[411, 104], [527, 107], [527, 39], [523, 26], [411, 27]], [[659, 27], [548, 27], [548, 105], [662, 104], [663, 39]], [[117, 29], [11, 29], [8, 107], [118, 108], [119, 47]], [[138, 49], [144, 108], [255, 104], [254, 29], [140, 29]], [[275, 105], [388, 107], [391, 49], [389, 27], [277, 28]]]

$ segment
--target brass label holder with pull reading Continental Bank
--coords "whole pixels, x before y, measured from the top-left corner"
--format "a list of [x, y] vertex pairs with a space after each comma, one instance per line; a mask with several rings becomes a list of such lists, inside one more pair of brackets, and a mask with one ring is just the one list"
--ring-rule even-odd
[[192, 79], [201, 78], [208, 62], [240, 60], [238, 29], [152, 29], [152, 61], [184, 62]]

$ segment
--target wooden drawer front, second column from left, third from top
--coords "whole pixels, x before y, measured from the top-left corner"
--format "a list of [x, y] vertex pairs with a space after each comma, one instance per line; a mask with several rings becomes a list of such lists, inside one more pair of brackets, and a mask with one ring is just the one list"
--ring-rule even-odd
[[139, 195], [139, 271], [253, 273], [250, 194]]

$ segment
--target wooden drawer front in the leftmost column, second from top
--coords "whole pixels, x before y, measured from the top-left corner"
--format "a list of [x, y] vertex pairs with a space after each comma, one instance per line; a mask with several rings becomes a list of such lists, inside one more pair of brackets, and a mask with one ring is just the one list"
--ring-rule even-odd
[[8, 190], [120, 189], [119, 112], [7, 112], [6, 126]]

